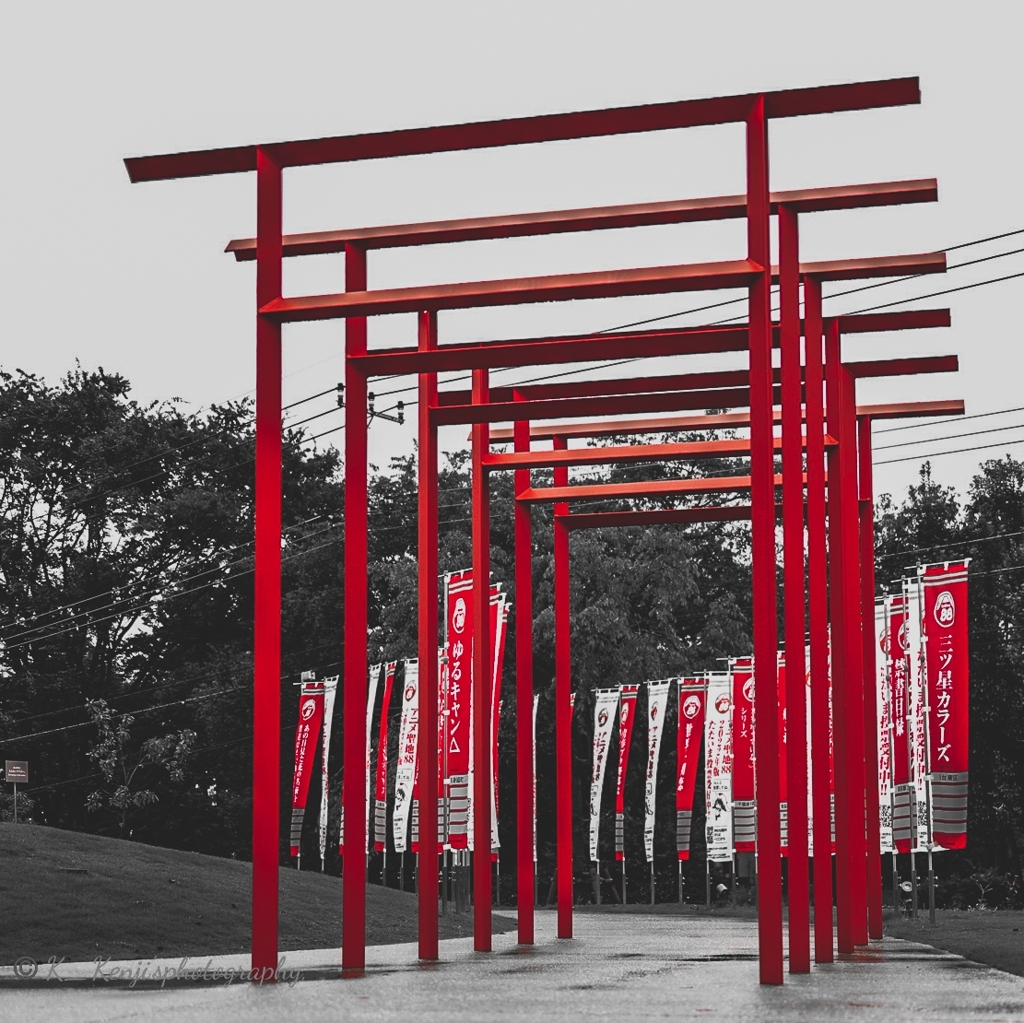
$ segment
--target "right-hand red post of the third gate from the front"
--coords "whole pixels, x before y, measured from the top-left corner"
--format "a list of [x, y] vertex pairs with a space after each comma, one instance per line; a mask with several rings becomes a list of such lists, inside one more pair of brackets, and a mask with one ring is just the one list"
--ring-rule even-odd
[[828, 758], [828, 577], [821, 283], [804, 279], [807, 395], [807, 590], [811, 647], [811, 799], [814, 815], [814, 962], [835, 958], [831, 884], [831, 767]]

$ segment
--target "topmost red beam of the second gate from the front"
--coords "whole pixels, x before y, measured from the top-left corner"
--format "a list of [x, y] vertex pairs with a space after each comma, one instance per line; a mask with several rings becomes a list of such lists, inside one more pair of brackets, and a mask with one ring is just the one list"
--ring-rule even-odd
[[[771, 210], [775, 213], [779, 205], [785, 205], [801, 213], [812, 213], [861, 209], [869, 206], [934, 203], [938, 195], [935, 178], [800, 188], [794, 191], [772, 193]], [[671, 200], [665, 203], [634, 203], [622, 206], [596, 206], [581, 210], [551, 210], [510, 216], [469, 217], [418, 224], [359, 227], [349, 230], [308, 231], [301, 235], [286, 235], [283, 253], [286, 257], [313, 256], [343, 252], [346, 245], [355, 245], [361, 249], [392, 249], [453, 242], [476, 242], [483, 239], [729, 220], [743, 216], [746, 216], [745, 196], [716, 196], [707, 199]], [[234, 239], [228, 242], [224, 251], [233, 252], [239, 262], [255, 259], [256, 239]]]

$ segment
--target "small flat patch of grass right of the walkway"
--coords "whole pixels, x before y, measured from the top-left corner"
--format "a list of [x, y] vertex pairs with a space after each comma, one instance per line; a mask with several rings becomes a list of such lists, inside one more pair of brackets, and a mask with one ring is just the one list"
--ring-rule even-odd
[[916, 920], [886, 921], [886, 934], [922, 941], [1024, 977], [1024, 912], [1020, 910], [938, 909], [932, 927], [925, 909]]

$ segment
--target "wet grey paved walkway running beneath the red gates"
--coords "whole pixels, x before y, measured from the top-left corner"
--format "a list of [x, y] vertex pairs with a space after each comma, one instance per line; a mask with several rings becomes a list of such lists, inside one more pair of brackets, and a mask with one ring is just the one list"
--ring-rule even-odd
[[[441, 942], [442, 961], [431, 966], [416, 964], [415, 945], [371, 948], [367, 976], [355, 980], [331, 976], [336, 949], [286, 953], [286, 972], [316, 979], [265, 987], [227, 984], [222, 973], [213, 979], [215, 971], [245, 971], [248, 960], [238, 955], [190, 961], [186, 968], [206, 968], [207, 979], [163, 990], [125, 982], [144, 968], [152, 984], [157, 971], [180, 968], [180, 961], [62, 964], [63, 983], [45, 980], [50, 968], [42, 965], [28, 986], [15, 986], [8, 967], [0, 970], [0, 998], [4, 1018], [19, 1023], [1024, 1021], [1024, 979], [928, 945], [886, 939], [765, 988], [758, 984], [756, 925], [748, 921], [580, 914], [571, 941], [554, 937], [554, 923], [553, 913], [538, 914], [538, 944], [529, 950], [517, 948], [514, 933], [497, 936], [492, 954], [474, 953], [465, 938]], [[97, 969], [109, 979], [89, 981]]]

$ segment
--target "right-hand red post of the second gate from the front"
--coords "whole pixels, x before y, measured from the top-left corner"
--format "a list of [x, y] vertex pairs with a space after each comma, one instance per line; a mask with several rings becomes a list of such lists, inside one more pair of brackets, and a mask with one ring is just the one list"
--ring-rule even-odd
[[790, 973], [811, 969], [807, 861], [807, 711], [804, 691], [804, 452], [797, 213], [778, 208], [782, 383], [782, 543], [785, 634]]

